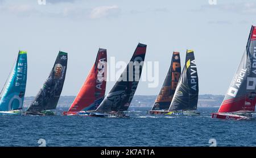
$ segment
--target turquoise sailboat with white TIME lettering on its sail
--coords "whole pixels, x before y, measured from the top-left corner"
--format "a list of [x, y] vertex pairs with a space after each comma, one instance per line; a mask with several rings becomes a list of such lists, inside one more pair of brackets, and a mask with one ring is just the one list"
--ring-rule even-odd
[[27, 84], [27, 52], [19, 51], [0, 94], [0, 115], [20, 115]]

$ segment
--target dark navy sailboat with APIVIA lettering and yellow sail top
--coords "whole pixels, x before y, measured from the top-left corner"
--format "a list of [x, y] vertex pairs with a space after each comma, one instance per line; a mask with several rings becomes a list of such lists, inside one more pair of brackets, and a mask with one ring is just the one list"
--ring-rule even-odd
[[193, 50], [187, 50], [174, 98], [167, 115], [200, 115], [197, 109], [199, 83]]

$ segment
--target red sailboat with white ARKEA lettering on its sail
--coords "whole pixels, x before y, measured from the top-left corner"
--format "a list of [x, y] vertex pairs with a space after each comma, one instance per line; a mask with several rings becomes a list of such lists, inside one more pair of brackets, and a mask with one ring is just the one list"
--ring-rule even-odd
[[84, 85], [69, 110], [64, 111], [63, 115], [89, 115], [90, 113], [86, 111], [97, 109], [103, 101], [106, 91], [106, 62], [106, 49], [100, 48]]

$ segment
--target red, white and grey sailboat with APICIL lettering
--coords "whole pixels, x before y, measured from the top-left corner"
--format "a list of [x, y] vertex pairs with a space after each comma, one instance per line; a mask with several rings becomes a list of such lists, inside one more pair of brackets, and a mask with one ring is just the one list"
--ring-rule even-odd
[[256, 27], [251, 26], [246, 51], [218, 113], [212, 118], [252, 119], [256, 103]]

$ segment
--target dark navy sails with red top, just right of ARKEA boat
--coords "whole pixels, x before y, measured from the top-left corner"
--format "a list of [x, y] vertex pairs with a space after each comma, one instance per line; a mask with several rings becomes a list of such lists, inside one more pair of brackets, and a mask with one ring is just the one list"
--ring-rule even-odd
[[146, 47], [147, 45], [145, 44], [138, 44], [126, 69], [123, 71], [118, 81], [115, 82], [109, 94], [106, 95], [100, 106], [96, 109], [96, 112], [122, 112], [129, 108], [141, 78]]

